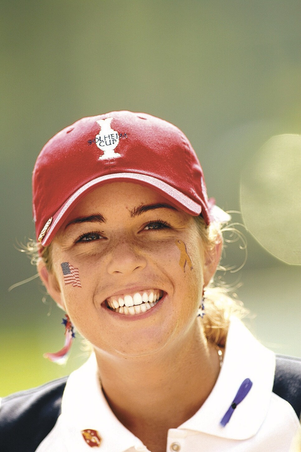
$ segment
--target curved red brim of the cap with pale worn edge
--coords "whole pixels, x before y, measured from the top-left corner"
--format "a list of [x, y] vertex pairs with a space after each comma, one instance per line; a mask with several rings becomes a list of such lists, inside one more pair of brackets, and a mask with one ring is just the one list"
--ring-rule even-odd
[[110, 182], [132, 182], [140, 185], [145, 185], [147, 187], [153, 188], [157, 192], [161, 193], [162, 196], [167, 198], [176, 207], [180, 207], [190, 215], [197, 216], [202, 215], [207, 224], [209, 224], [209, 215], [208, 209], [206, 208], [203, 201], [195, 202], [185, 194], [181, 193], [171, 185], [168, 185], [166, 182], [163, 182], [160, 179], [156, 179], [152, 176], [148, 176], [145, 174], [138, 173], [117, 173], [117, 174], [107, 174], [105, 176], [98, 177], [97, 179], [93, 179], [87, 184], [80, 187], [72, 196], [63, 204], [62, 207], [56, 212], [53, 216], [53, 220], [51, 225], [44, 235], [41, 243], [43, 246], [47, 246], [51, 243], [56, 232], [59, 230], [60, 226], [64, 223], [65, 218], [72, 211], [72, 209], [76, 206], [76, 204], [89, 192], [93, 191], [95, 188], [100, 187], [104, 184], [108, 184]]

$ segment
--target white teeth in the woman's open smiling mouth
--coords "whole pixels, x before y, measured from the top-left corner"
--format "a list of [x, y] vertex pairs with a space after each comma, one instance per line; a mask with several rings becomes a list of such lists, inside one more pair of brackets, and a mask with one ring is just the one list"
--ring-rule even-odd
[[163, 295], [164, 292], [160, 289], [147, 289], [133, 294], [109, 297], [106, 300], [106, 306], [119, 314], [137, 315], [155, 306]]

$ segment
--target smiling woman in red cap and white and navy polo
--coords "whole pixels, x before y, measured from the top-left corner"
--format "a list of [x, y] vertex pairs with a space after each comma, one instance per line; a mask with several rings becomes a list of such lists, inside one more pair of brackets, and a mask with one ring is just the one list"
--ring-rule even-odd
[[75, 122], [37, 158], [33, 215], [39, 275], [66, 313], [47, 357], [75, 330], [93, 353], [2, 401], [1, 450], [290, 450], [298, 408], [272, 392], [274, 354], [239, 306], [209, 298], [229, 216], [178, 128], [126, 111]]

